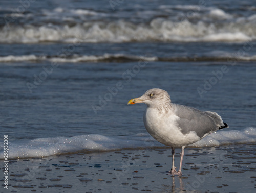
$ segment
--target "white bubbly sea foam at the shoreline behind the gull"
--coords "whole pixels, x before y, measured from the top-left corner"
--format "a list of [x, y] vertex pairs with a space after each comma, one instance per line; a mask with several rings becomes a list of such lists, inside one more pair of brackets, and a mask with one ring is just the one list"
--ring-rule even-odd
[[[239, 143], [255, 143], [256, 128], [221, 130], [208, 135], [189, 147], [222, 146]], [[37, 138], [9, 142], [8, 158], [46, 157], [56, 154], [72, 154], [78, 151], [98, 152], [120, 149], [154, 148], [163, 145], [147, 133], [131, 136], [108, 137], [98, 134], [73, 137]], [[0, 159], [4, 158], [4, 147], [0, 146]]]

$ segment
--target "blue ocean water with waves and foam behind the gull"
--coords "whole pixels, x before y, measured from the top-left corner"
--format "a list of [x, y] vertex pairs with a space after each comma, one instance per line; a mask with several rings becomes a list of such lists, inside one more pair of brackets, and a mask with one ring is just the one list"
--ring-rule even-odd
[[9, 157], [162, 146], [144, 128], [146, 105], [127, 106], [150, 88], [229, 125], [192, 146], [256, 142], [255, 10], [237, 0], [1, 1]]

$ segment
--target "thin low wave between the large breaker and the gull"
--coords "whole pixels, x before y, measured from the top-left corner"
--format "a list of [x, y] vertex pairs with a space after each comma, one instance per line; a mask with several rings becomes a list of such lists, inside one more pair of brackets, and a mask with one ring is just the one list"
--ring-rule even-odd
[[[209, 53], [211, 54], [211, 53]], [[70, 55], [63, 56], [36, 56], [36, 55], [22, 55], [22, 56], [0, 56], [0, 62], [22, 62], [22, 61], [44, 61], [51, 62], [129, 62], [129, 61], [166, 61], [166, 62], [189, 62], [189, 61], [223, 61], [234, 57], [232, 54], [224, 54], [222, 56], [194, 56], [194, 57], [157, 57], [157, 56], [137, 56], [125, 54], [103, 54], [103, 55]], [[256, 61], [256, 55], [239, 56], [236, 57], [240, 61]]]

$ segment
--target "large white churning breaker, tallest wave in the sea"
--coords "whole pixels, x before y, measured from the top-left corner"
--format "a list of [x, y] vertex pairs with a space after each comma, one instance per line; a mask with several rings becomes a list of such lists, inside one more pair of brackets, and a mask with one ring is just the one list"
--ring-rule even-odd
[[75, 26], [11, 26], [0, 30], [0, 43], [40, 43], [40, 42], [198, 42], [226, 41], [243, 42], [256, 38], [256, 24], [230, 22], [213, 24], [184, 20], [175, 22], [156, 18], [149, 25], [145, 23], [86, 22]]

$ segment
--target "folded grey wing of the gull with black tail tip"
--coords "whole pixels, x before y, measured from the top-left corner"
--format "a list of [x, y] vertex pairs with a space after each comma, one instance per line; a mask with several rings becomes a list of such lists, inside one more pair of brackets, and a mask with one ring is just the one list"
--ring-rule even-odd
[[173, 107], [175, 108], [175, 115], [180, 117], [178, 127], [181, 128], [183, 134], [195, 131], [202, 138], [207, 133], [228, 127], [216, 112], [203, 112], [193, 107], [178, 104], [173, 104]]

